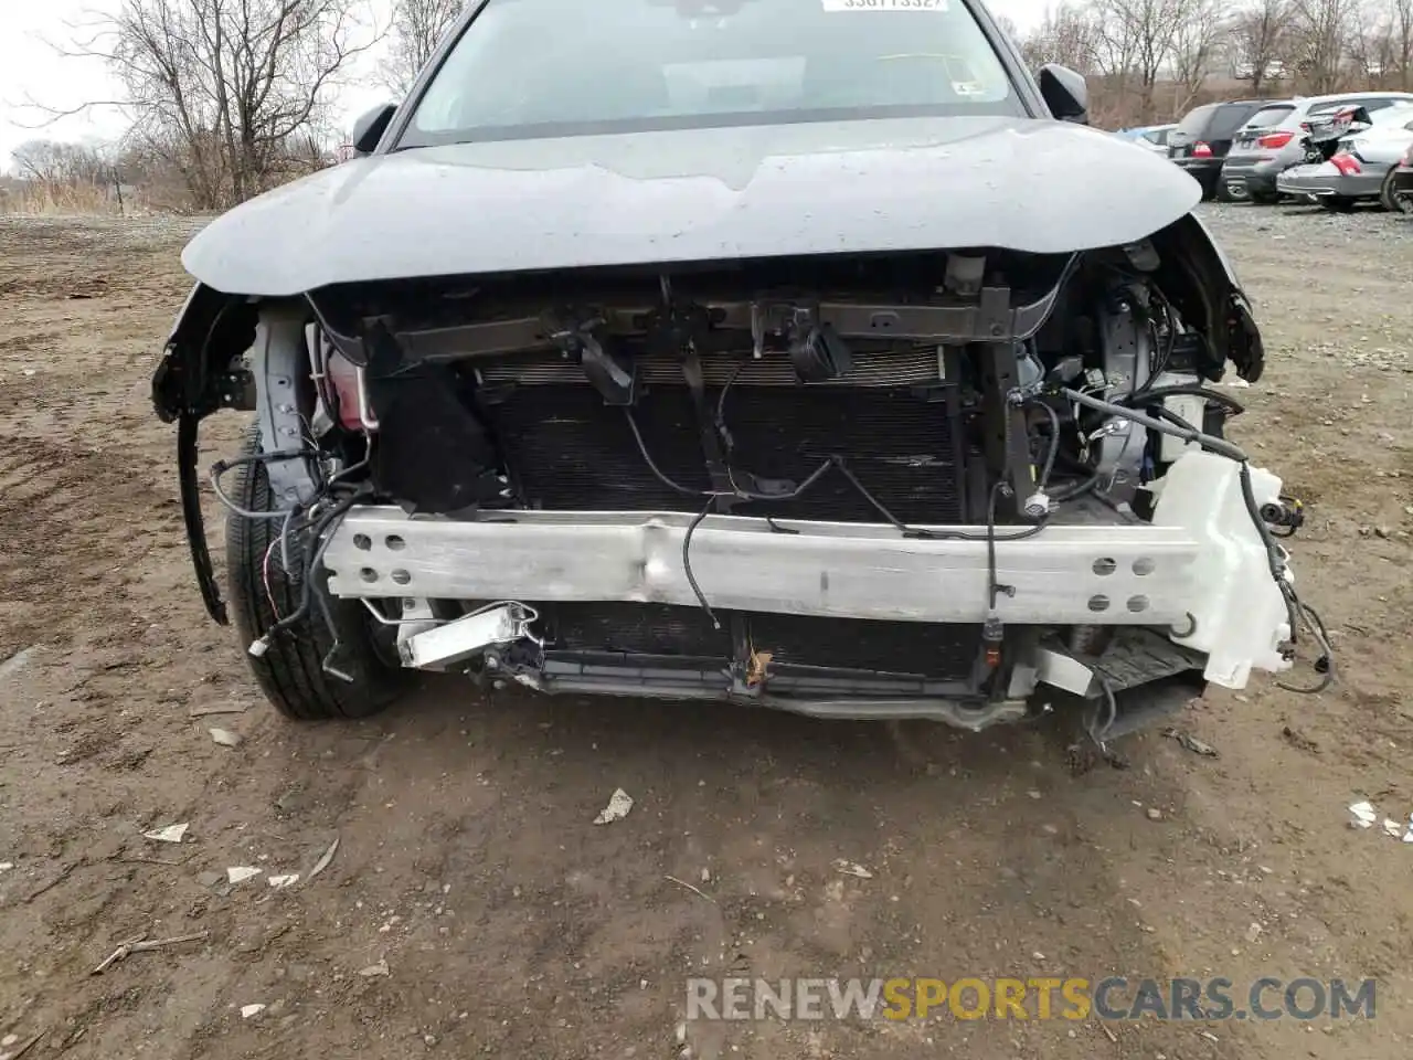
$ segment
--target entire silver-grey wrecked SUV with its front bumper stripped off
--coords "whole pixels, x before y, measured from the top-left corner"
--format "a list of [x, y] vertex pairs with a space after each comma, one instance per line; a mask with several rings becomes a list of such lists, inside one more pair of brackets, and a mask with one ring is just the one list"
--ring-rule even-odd
[[182, 256], [208, 608], [240, 408], [229, 601], [294, 718], [424, 669], [1108, 738], [1290, 666], [1300, 513], [1211, 387], [1259, 332], [1198, 185], [1084, 122], [972, 0], [469, 4], [362, 157]]

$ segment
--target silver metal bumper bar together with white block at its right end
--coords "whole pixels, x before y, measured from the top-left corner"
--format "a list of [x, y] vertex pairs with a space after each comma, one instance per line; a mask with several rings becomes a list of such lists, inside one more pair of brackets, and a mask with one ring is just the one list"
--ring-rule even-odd
[[[1280, 479], [1252, 469], [1258, 505]], [[1183, 455], [1157, 488], [1153, 523], [1047, 526], [1006, 540], [1003, 622], [1167, 629], [1208, 656], [1205, 677], [1242, 688], [1251, 670], [1290, 667], [1291, 629], [1239, 468]], [[682, 563], [694, 516], [674, 512], [497, 512], [476, 522], [355, 507], [328, 543], [339, 596], [698, 603]], [[712, 606], [893, 622], [976, 623], [991, 574], [985, 536], [904, 537], [894, 527], [711, 516], [691, 567]], [[1293, 578], [1286, 568], [1284, 578]]]

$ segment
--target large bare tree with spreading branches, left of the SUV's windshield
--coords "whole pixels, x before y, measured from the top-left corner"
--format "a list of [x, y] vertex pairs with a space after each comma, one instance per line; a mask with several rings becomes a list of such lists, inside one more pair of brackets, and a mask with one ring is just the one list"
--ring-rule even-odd
[[107, 61], [123, 93], [103, 103], [123, 106], [147, 154], [212, 209], [290, 175], [291, 140], [321, 129], [339, 73], [377, 40], [360, 11], [362, 0], [122, 0], [61, 51]]

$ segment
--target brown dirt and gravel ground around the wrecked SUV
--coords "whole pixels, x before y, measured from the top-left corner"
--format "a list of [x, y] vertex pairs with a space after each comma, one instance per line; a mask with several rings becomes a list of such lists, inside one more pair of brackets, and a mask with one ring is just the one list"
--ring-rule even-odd
[[[0, 220], [0, 1054], [42, 1032], [28, 1057], [666, 1059], [684, 977], [735, 970], [1379, 994], [1372, 1023], [694, 1025], [698, 1057], [1409, 1056], [1413, 845], [1345, 807], [1413, 810], [1413, 223], [1207, 215], [1270, 348], [1236, 434], [1314, 506], [1297, 571], [1344, 683], [1214, 693], [1181, 724], [1219, 758], [1149, 734], [1132, 769], [1081, 777], [1044, 728], [485, 702], [455, 680], [366, 724], [280, 722], [205, 620], [147, 399], [189, 226]], [[212, 452], [237, 431], [216, 421]], [[192, 717], [212, 707], [247, 709]], [[615, 787], [633, 811], [593, 827]], [[184, 845], [141, 837], [181, 821]], [[312, 881], [225, 883], [308, 875], [333, 837]]]

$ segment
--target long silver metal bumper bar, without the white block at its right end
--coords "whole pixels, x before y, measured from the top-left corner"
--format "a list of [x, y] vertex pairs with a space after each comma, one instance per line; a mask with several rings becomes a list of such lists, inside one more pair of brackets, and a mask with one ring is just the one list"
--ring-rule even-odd
[[[695, 606], [682, 564], [691, 514], [516, 512], [479, 522], [355, 507], [325, 554], [339, 596]], [[979, 623], [988, 612], [983, 534], [910, 538], [889, 526], [711, 516], [691, 540], [712, 606], [893, 622]], [[928, 527], [945, 530], [947, 527]], [[1202, 547], [1161, 526], [1053, 526], [1019, 541], [998, 530], [1003, 622], [1184, 626], [1188, 568]]]

